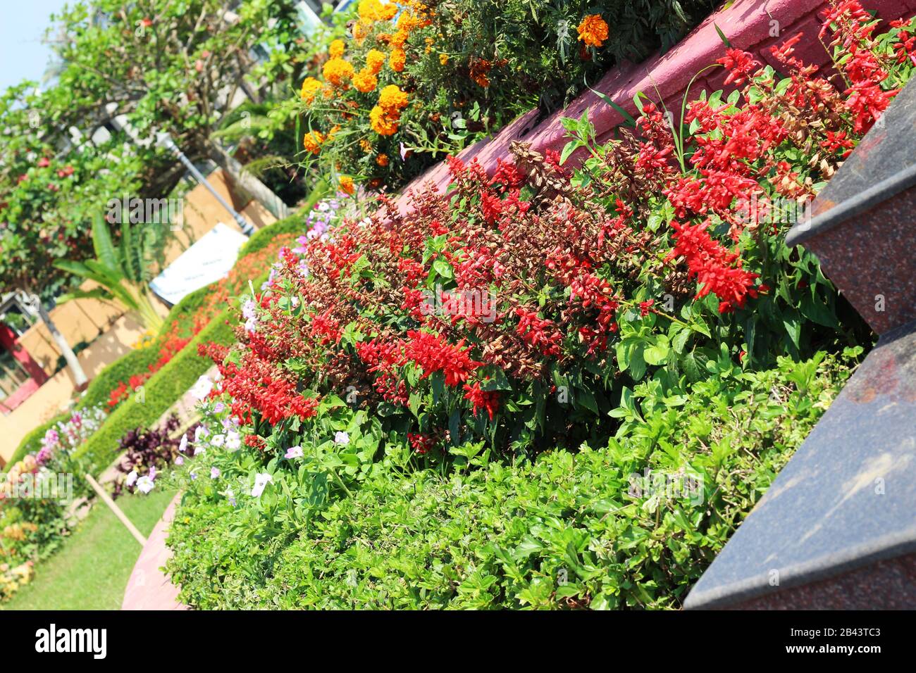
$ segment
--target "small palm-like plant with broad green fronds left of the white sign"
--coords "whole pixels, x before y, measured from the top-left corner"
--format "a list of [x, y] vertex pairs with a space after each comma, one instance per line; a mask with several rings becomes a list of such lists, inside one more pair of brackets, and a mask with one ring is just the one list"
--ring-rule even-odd
[[59, 259], [54, 266], [83, 280], [93, 280], [98, 287], [72, 290], [62, 295], [58, 301], [113, 300], [133, 311], [147, 330], [158, 332], [163, 320], [153, 306], [148, 284], [161, 264], [168, 231], [168, 227], [153, 225], [142, 226], [140, 231], [135, 231], [130, 223], [123, 222], [120, 244], [115, 245], [104, 217], [96, 213], [93, 218], [93, 248], [96, 258], [85, 262]]

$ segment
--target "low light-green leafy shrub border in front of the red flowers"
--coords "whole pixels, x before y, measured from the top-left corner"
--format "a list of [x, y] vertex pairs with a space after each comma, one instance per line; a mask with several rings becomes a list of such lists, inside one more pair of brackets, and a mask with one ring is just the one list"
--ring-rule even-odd
[[[664, 402], [647, 382], [630, 404], [639, 421], [605, 448], [533, 464], [468, 455], [481, 469], [444, 477], [401, 472], [389, 453], [300, 527], [276, 528], [287, 483], [260, 499], [233, 487], [232, 505], [212, 480], [189, 481], [169, 572], [202, 609], [676, 608], [849, 373], [818, 353], [754, 374], [719, 367]], [[646, 470], [671, 491], [634, 476]]]

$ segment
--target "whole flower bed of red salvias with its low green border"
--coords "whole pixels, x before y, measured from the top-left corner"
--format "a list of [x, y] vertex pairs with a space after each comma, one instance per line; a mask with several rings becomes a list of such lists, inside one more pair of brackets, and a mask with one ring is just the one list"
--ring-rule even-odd
[[870, 344], [782, 212], [911, 76], [916, 21], [877, 27], [855, 2], [824, 17], [843, 84], [800, 38], [773, 49], [784, 75], [723, 47], [739, 91], [682, 125], [640, 95], [610, 142], [568, 119], [562, 156], [450, 159], [408, 214], [383, 197], [284, 250], [240, 345], [206, 347], [183, 600], [678, 606]]

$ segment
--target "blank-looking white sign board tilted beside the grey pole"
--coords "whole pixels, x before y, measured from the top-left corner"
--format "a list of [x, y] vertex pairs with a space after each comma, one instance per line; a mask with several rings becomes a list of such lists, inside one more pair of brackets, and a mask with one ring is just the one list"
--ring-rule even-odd
[[245, 234], [218, 223], [153, 278], [149, 288], [169, 304], [226, 277], [235, 264]]

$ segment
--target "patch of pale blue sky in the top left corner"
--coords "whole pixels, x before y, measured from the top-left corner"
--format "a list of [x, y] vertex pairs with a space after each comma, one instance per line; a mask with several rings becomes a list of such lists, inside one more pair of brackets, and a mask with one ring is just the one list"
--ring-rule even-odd
[[41, 43], [49, 26], [48, 17], [67, 4], [67, 0], [0, 3], [0, 90], [25, 79], [41, 81], [51, 55]]

